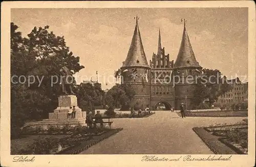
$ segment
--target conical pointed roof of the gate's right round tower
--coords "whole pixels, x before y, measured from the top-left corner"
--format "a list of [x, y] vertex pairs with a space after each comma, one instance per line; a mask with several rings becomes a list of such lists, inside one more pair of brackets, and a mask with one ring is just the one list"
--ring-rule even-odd
[[195, 54], [190, 44], [187, 31], [186, 31], [185, 19], [183, 21], [184, 21], [184, 30], [183, 30], [182, 40], [180, 44], [180, 50], [174, 64], [174, 68], [201, 67], [196, 60]]

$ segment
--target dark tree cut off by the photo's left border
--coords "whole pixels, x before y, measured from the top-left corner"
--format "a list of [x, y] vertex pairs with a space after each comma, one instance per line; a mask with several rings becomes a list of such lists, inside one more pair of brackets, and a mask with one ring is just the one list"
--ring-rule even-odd
[[[30, 119], [31, 113], [37, 111], [37, 108], [32, 107], [33, 99], [30, 99], [33, 92], [29, 91], [27, 84], [18, 82], [19, 76], [28, 79], [27, 74], [36, 65], [36, 60], [26, 50], [24, 40], [17, 29], [18, 26], [11, 23], [11, 137], [17, 137], [19, 128]], [[35, 115], [40, 115], [40, 112]]]

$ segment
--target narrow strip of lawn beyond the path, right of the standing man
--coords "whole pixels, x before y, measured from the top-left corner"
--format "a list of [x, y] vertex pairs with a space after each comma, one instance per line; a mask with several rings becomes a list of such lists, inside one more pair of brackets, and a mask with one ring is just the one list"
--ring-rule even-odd
[[[180, 112], [176, 112], [181, 116]], [[248, 111], [186, 111], [185, 116], [201, 116], [201, 117], [245, 117], [248, 116]]]

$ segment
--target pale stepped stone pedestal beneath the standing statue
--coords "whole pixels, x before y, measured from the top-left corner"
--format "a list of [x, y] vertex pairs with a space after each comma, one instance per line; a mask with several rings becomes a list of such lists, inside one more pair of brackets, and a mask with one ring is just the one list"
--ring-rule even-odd
[[[75, 106], [76, 109], [76, 115], [75, 118], [68, 118], [68, 111], [70, 107], [73, 108]], [[67, 95], [67, 96], [60, 96], [58, 97], [58, 107], [51, 113], [49, 113], [49, 119], [35, 122], [35, 123], [29, 123], [30, 126], [34, 125], [42, 125], [46, 126], [49, 124], [58, 124], [58, 125], [86, 125], [86, 111], [82, 111], [77, 106], [77, 98], [74, 95]]]

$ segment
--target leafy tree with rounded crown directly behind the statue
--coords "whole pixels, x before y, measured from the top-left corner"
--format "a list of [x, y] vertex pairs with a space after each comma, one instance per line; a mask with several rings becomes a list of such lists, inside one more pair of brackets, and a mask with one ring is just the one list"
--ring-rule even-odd
[[24, 39], [26, 49], [36, 59], [36, 66], [30, 70], [30, 75], [44, 76], [40, 87], [36, 81], [30, 86], [30, 89], [44, 94], [46, 98], [51, 100], [51, 103], [44, 109], [46, 111], [45, 116], [48, 116], [49, 111], [57, 107], [57, 98], [61, 94], [59, 69], [62, 66], [67, 66], [71, 73], [75, 74], [84, 68], [79, 64], [79, 57], [75, 57], [69, 51], [64, 37], [56, 36], [48, 30], [49, 26], [38, 29], [34, 27], [28, 34], [28, 38]]

